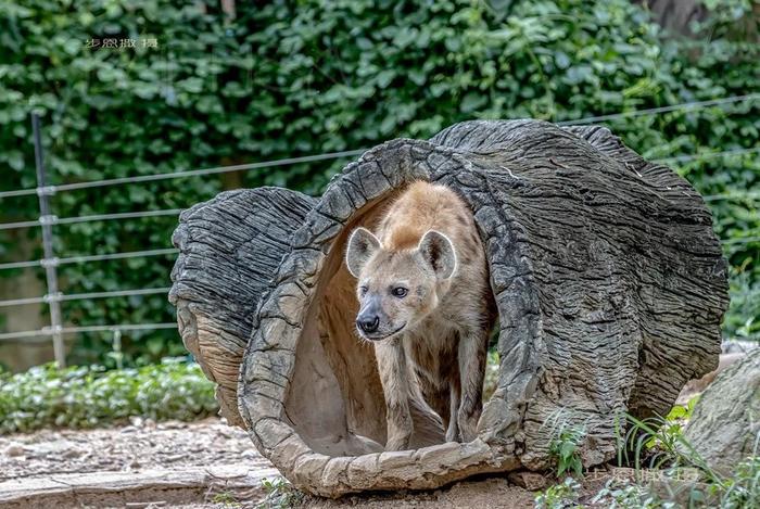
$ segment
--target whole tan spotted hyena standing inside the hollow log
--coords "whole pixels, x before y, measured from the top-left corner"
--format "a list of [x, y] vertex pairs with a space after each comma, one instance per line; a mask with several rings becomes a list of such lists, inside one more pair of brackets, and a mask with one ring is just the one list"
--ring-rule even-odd
[[420, 393], [447, 441], [472, 441], [494, 305], [468, 206], [444, 186], [416, 181], [389, 206], [377, 236], [352, 232], [346, 266], [357, 279], [356, 330], [372, 342], [380, 371], [385, 449], [408, 448], [409, 398]]

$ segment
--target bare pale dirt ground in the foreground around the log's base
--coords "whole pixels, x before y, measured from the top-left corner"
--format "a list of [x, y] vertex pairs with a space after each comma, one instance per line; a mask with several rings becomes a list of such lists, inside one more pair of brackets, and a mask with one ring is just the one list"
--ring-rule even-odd
[[[241, 466], [249, 473], [271, 472], [271, 465], [258, 455], [246, 433], [218, 419], [201, 422], [153, 423], [142, 419], [130, 425], [89, 431], [43, 430], [30, 434], [0, 437], [0, 485], [23, 480], [61, 479], [67, 474], [110, 472], [166, 472], [210, 466]], [[275, 478], [268, 478], [275, 479]], [[261, 482], [258, 482], [261, 483]], [[8, 483], [7, 483], [8, 484]], [[598, 484], [598, 483], [592, 483]], [[587, 486], [593, 493], [593, 485]], [[156, 492], [153, 498], [124, 502], [117, 507], [187, 507], [192, 509], [267, 507], [262, 505], [261, 486], [248, 491], [195, 489], [182, 493]], [[525, 508], [533, 507], [535, 493], [510, 483], [504, 476], [455, 483], [432, 492], [395, 492], [370, 496], [347, 496], [339, 500], [297, 497], [296, 507], [334, 509], [367, 507], [372, 509], [460, 507]], [[76, 504], [72, 500], [78, 500]], [[89, 501], [87, 501], [89, 500]], [[112, 498], [55, 500], [47, 507], [114, 507]], [[102, 504], [98, 500], [102, 500]], [[107, 500], [112, 500], [109, 502]], [[274, 506], [277, 507], [277, 500]], [[71, 504], [68, 506], [67, 504]], [[0, 504], [2, 505], [2, 504]]]

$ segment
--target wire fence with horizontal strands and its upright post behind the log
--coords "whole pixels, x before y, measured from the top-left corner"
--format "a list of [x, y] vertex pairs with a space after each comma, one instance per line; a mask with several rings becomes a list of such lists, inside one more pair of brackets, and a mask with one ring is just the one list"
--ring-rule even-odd
[[[558, 125], [586, 125], [593, 123], [605, 123], [616, 119], [637, 117], [645, 115], [661, 115], [666, 113], [673, 112], [688, 112], [696, 111], [712, 106], [722, 106], [726, 104], [736, 103], [749, 103], [760, 100], [760, 93], [745, 94], [745, 96], [733, 96], [726, 98], [719, 98], [709, 101], [695, 101], [682, 104], [674, 104], [661, 107], [646, 109], [646, 110], [633, 110], [628, 112], [620, 112], [610, 115], [599, 115], [591, 116], [585, 118], [579, 118], [574, 120], [562, 120], [557, 123]], [[114, 213], [114, 214], [96, 214], [89, 216], [76, 216], [76, 217], [56, 217], [49, 211], [49, 199], [52, 195], [59, 193], [65, 193], [81, 189], [96, 189], [105, 188], [112, 186], [125, 186], [125, 184], [139, 184], [145, 182], [154, 182], [159, 180], [176, 179], [176, 178], [188, 178], [188, 177], [202, 177], [208, 175], [218, 175], [229, 171], [250, 171], [255, 169], [273, 168], [278, 166], [288, 166], [294, 164], [303, 163], [314, 163], [321, 161], [338, 160], [343, 157], [354, 157], [360, 155], [366, 149], [349, 150], [341, 152], [330, 152], [324, 154], [306, 155], [300, 157], [288, 157], [275, 161], [256, 162], [249, 164], [238, 164], [229, 166], [217, 166], [210, 168], [199, 168], [199, 169], [178, 169], [172, 173], [163, 174], [152, 174], [152, 175], [140, 175], [135, 177], [124, 177], [114, 179], [103, 179], [103, 180], [91, 180], [85, 182], [74, 182], [64, 183], [58, 186], [47, 184], [46, 171], [43, 165], [43, 154], [42, 145], [39, 140], [39, 126], [38, 119], [33, 118], [33, 124], [36, 129], [37, 136], [35, 137], [35, 149], [36, 149], [36, 164], [38, 173], [38, 186], [28, 189], [17, 189], [11, 191], [0, 191], [0, 200], [17, 196], [29, 196], [37, 195], [40, 201], [40, 216], [36, 220], [24, 220], [16, 222], [5, 222], [0, 224], [0, 230], [12, 230], [21, 228], [35, 228], [41, 227], [43, 233], [46, 230], [50, 232], [50, 236], [43, 234], [43, 243], [46, 245], [46, 256], [41, 259], [23, 260], [23, 262], [9, 262], [0, 264], [0, 270], [10, 269], [22, 269], [22, 268], [34, 268], [41, 267], [46, 269], [47, 280], [48, 280], [48, 293], [41, 296], [34, 297], [23, 297], [23, 298], [12, 298], [0, 301], [0, 308], [8, 308], [13, 306], [25, 306], [25, 305], [40, 305], [46, 304], [51, 310], [51, 325], [49, 327], [43, 327], [39, 330], [26, 330], [17, 332], [3, 332], [0, 333], [1, 341], [18, 341], [24, 340], [27, 342], [47, 342], [52, 338], [54, 343], [55, 360], [60, 366], [65, 366], [65, 356], [63, 349], [63, 336], [73, 335], [85, 332], [111, 332], [121, 333], [123, 331], [139, 331], [139, 330], [160, 330], [160, 329], [173, 329], [176, 323], [116, 323], [116, 325], [102, 325], [102, 326], [85, 326], [85, 327], [63, 327], [60, 317], [60, 309], [56, 308], [62, 302], [72, 301], [90, 301], [97, 298], [114, 298], [114, 297], [129, 297], [137, 295], [155, 295], [155, 294], [167, 294], [169, 288], [150, 288], [150, 289], [126, 289], [126, 290], [115, 290], [105, 292], [90, 292], [90, 293], [76, 293], [76, 294], [64, 294], [58, 291], [56, 283], [56, 272], [55, 269], [59, 266], [66, 264], [88, 264], [93, 262], [109, 262], [116, 259], [128, 259], [138, 257], [151, 257], [151, 256], [172, 256], [178, 253], [178, 250], [174, 247], [165, 249], [153, 249], [143, 251], [132, 251], [132, 252], [122, 252], [122, 253], [107, 253], [107, 254], [91, 254], [91, 255], [77, 255], [68, 257], [56, 257], [52, 253], [52, 239], [45, 239], [46, 237], [52, 236], [53, 226], [65, 226], [81, 222], [91, 221], [111, 221], [111, 220], [129, 220], [129, 219], [141, 219], [145, 217], [162, 217], [162, 216], [178, 216], [181, 213], [179, 208], [167, 208], [157, 211], [142, 211], [142, 212], [127, 212], [127, 213]], [[753, 148], [737, 148], [724, 151], [715, 151], [708, 153], [700, 153], [694, 155], [680, 155], [674, 157], [664, 157], [659, 160], [654, 160], [654, 162], [661, 164], [673, 164], [673, 163], [688, 163], [693, 161], [707, 161], [718, 157], [727, 156], [738, 156], [760, 153], [760, 145]], [[739, 195], [736, 194], [712, 194], [704, 196], [706, 202], [719, 202], [719, 201], [734, 201], [734, 200], [760, 200], [760, 192], [745, 192]], [[725, 241], [725, 244], [743, 244], [749, 242], [758, 242], [760, 238], [747, 237], [740, 239], [731, 239]]]

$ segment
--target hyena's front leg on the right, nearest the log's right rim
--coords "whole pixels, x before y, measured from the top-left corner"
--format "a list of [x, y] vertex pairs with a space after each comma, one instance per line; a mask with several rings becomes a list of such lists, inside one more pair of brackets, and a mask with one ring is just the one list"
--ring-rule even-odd
[[487, 349], [487, 331], [478, 330], [461, 335], [458, 351], [461, 395], [456, 420], [463, 442], [471, 442], [477, 436], [478, 420], [483, 410], [483, 377]]

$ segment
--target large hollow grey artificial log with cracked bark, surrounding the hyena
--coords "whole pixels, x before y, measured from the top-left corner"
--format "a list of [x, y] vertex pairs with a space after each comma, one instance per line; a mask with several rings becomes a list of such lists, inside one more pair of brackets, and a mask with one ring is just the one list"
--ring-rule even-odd
[[[415, 448], [384, 453], [382, 390], [353, 332], [343, 252], [418, 179], [449, 186], [474, 213], [498, 306], [498, 383], [473, 442], [444, 444], [435, 416], [418, 411]], [[199, 205], [175, 243], [179, 327], [224, 386], [223, 413], [319, 495], [540, 470], [562, 425], [583, 427], [583, 461], [600, 463], [619, 415], [666, 413], [720, 354], [726, 266], [708, 209], [601, 127], [469, 122], [394, 140], [318, 200], [263, 189]]]

